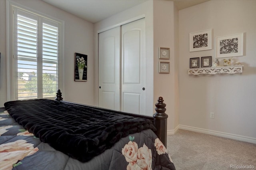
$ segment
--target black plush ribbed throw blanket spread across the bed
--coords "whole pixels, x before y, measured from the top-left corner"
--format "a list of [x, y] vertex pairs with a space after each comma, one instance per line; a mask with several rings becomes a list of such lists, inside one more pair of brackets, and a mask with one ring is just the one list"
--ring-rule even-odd
[[28, 132], [81, 162], [101, 154], [129, 134], [156, 130], [148, 119], [61, 101], [10, 101], [4, 106]]

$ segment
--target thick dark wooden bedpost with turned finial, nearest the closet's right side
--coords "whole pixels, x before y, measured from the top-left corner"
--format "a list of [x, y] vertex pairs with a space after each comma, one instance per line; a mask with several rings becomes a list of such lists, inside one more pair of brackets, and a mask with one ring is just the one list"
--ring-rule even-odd
[[168, 115], [165, 113], [166, 104], [164, 103], [164, 99], [162, 97], [158, 97], [158, 103], [156, 103], [156, 113], [153, 117], [156, 119], [156, 135], [162, 141], [164, 146], [167, 144], [167, 118]]

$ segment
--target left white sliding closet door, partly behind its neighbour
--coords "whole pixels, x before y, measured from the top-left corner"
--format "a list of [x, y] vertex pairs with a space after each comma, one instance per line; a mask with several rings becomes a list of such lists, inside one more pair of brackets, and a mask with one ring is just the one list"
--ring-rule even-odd
[[120, 111], [120, 27], [99, 34], [99, 107]]

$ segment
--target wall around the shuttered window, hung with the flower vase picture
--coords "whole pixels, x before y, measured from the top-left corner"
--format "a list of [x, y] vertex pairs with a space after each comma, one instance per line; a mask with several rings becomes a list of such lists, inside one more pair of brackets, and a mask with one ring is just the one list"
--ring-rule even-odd
[[[64, 89], [66, 101], [94, 104], [94, 30], [93, 24], [64, 12], [42, 0], [14, 0], [26, 8], [64, 21]], [[7, 101], [6, 85], [6, 1], [0, 0], [0, 107]], [[88, 55], [87, 82], [74, 81], [74, 53]]]

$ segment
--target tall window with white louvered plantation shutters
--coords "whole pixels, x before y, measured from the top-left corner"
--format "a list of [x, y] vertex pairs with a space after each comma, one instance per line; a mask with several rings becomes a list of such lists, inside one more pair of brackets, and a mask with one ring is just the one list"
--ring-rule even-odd
[[56, 96], [61, 86], [62, 23], [11, 5], [12, 100]]

